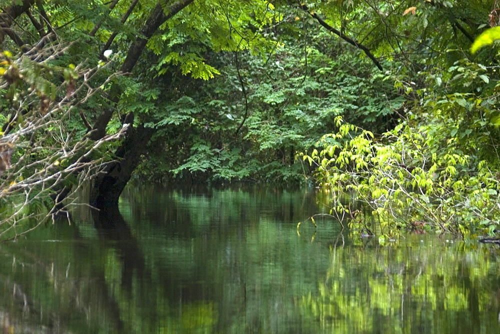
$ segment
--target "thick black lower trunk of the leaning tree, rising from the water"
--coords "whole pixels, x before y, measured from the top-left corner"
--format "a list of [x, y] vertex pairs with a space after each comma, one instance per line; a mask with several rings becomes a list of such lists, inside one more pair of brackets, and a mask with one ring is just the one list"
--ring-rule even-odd
[[[127, 118], [131, 118], [131, 113]], [[127, 126], [126, 137], [115, 152], [117, 158], [108, 162], [93, 179], [89, 202], [95, 208], [118, 205], [118, 198], [154, 133], [153, 128], [144, 127], [143, 124], [133, 127], [132, 121]]]

